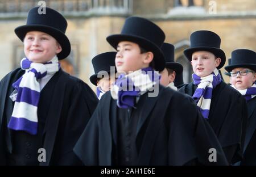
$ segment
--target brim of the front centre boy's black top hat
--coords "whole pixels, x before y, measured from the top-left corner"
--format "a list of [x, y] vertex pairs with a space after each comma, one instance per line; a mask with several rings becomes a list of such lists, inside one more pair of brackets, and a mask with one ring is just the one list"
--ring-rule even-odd
[[164, 54], [162, 50], [151, 41], [135, 35], [111, 35], [108, 36], [106, 40], [115, 49], [117, 48], [117, 45], [120, 41], [131, 41], [136, 43], [143, 49], [146, 49], [147, 51], [150, 51], [154, 54], [155, 70], [162, 71], [164, 69]]

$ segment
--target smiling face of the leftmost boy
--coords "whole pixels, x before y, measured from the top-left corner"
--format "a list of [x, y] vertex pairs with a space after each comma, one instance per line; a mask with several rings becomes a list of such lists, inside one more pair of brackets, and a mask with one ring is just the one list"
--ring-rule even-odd
[[24, 53], [28, 60], [46, 63], [61, 52], [61, 46], [50, 35], [40, 31], [30, 31], [23, 40]]

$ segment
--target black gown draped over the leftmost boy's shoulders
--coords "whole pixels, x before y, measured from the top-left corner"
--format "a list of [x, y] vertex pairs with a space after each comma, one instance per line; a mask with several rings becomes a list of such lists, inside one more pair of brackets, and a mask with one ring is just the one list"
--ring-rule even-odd
[[[9, 98], [14, 90], [11, 85], [23, 74], [24, 70], [16, 69], [0, 82], [0, 165], [8, 165], [7, 156], [14, 153], [14, 145], [23, 146], [17, 134], [24, 140], [35, 140], [30, 134], [7, 128], [14, 106]], [[46, 149], [46, 162], [34, 165], [81, 165], [72, 149], [97, 103], [97, 96], [86, 83], [62, 70], [55, 73], [42, 89], [38, 106], [38, 134], [42, 134], [39, 138]], [[35, 143], [32, 146], [36, 147]]]

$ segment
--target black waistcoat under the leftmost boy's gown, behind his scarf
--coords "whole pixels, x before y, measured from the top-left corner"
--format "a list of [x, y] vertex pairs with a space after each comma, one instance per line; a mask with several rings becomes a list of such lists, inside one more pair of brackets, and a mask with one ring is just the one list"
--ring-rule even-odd
[[[7, 138], [11, 138], [13, 149], [11, 153], [7, 153], [7, 165], [39, 165], [38, 156], [42, 151], [38, 150], [43, 147], [46, 117], [49, 110], [49, 100], [52, 98], [52, 90], [57, 79], [57, 73], [49, 80], [46, 86], [40, 92], [40, 100], [38, 104], [38, 133], [31, 135], [24, 131], [9, 130], [7, 127], [5, 133], [9, 134]], [[13, 102], [14, 106], [14, 102]], [[13, 107], [7, 107], [13, 109]], [[6, 117], [11, 116], [12, 111], [5, 111]], [[10, 150], [8, 150], [10, 152]], [[46, 152], [47, 153], [47, 152]]]

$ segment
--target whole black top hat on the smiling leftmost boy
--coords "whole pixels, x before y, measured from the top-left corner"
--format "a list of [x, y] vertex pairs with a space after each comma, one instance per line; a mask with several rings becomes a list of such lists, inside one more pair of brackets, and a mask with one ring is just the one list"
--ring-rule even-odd
[[46, 7], [46, 14], [39, 13], [39, 7], [28, 12], [27, 24], [15, 28], [15, 33], [23, 41], [29, 31], [42, 31], [54, 37], [61, 45], [61, 52], [57, 54], [59, 60], [67, 57], [71, 51], [68, 37], [65, 36], [67, 20], [57, 11]]

